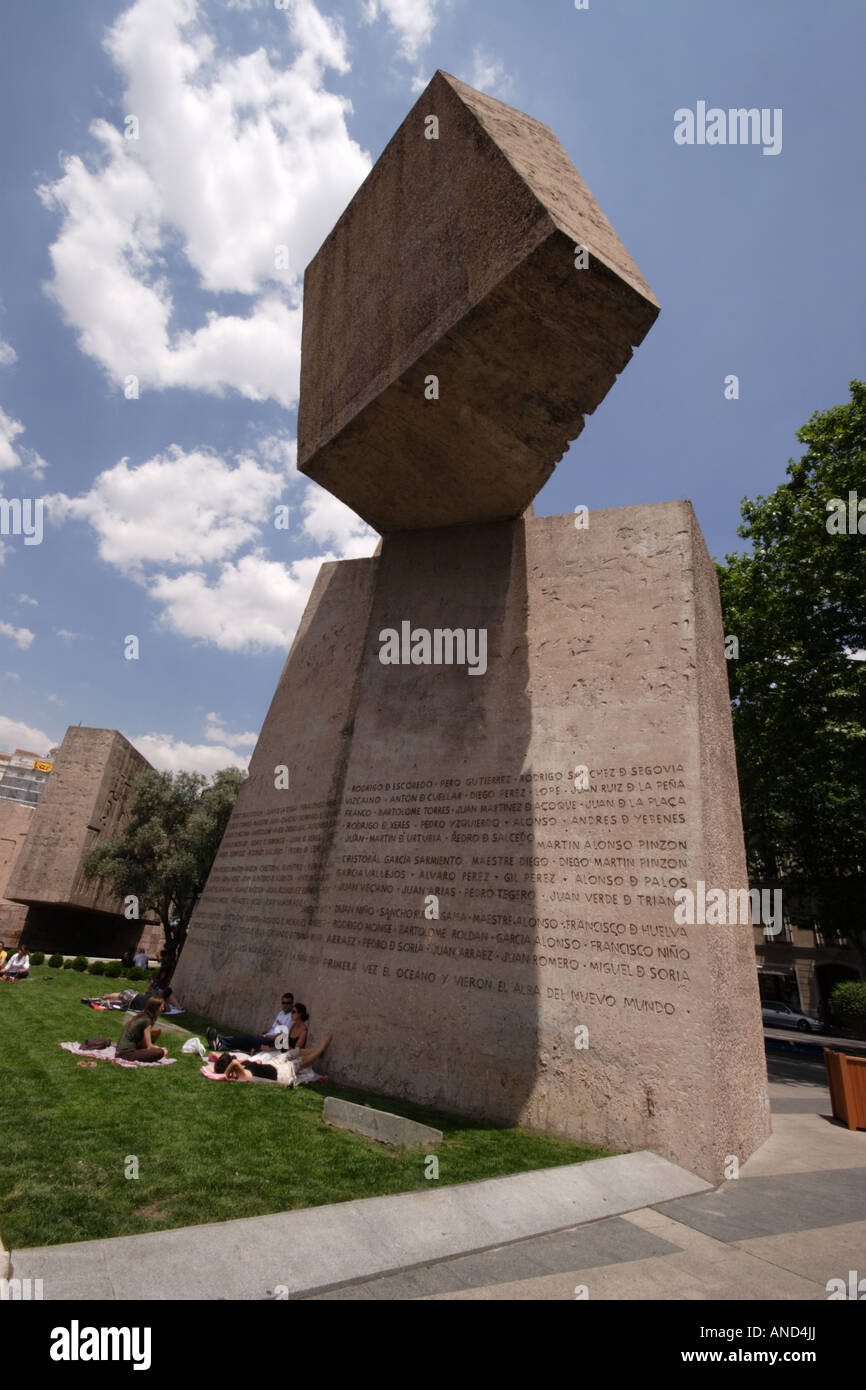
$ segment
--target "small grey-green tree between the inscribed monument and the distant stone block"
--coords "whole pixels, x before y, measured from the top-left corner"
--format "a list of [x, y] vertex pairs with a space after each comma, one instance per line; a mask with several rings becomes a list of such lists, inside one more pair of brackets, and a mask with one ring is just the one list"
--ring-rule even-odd
[[132, 783], [129, 817], [85, 856], [85, 877], [135, 897], [138, 915], [163, 923], [163, 963], [172, 969], [186, 940], [245, 773], [225, 767], [209, 783], [200, 773], [149, 769]]

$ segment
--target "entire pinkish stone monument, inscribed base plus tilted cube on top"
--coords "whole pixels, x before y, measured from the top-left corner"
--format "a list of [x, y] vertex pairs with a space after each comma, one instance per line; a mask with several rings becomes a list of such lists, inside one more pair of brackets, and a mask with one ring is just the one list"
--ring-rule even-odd
[[528, 514], [656, 314], [552, 132], [438, 72], [304, 279], [299, 466], [381, 553], [318, 574], [177, 988], [714, 1180], [769, 1129], [752, 929], [674, 898], [748, 887], [714, 570], [688, 502]]

